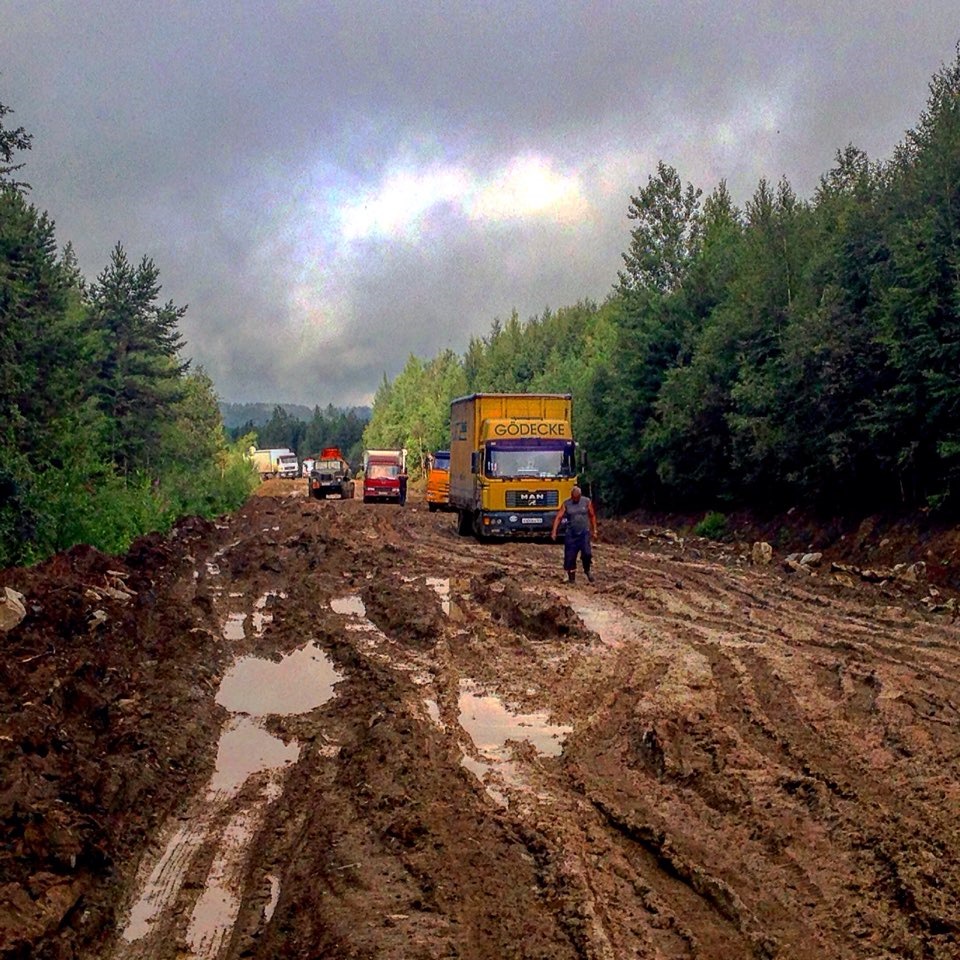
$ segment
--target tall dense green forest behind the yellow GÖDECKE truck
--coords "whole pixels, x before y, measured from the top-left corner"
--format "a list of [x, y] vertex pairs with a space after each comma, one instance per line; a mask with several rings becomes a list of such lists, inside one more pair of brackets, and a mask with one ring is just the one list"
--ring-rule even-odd
[[368, 443], [449, 443], [449, 400], [572, 392], [608, 506], [930, 507], [960, 495], [960, 48], [887, 161], [838, 152], [809, 200], [738, 207], [658, 166], [601, 305], [411, 357]]

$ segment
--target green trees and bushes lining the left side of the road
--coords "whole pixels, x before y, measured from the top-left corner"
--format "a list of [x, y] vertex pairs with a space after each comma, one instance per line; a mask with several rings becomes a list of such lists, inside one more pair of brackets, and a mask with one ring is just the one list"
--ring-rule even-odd
[[108, 552], [256, 483], [213, 384], [180, 354], [185, 308], [119, 244], [93, 282], [19, 181], [29, 149], [0, 104], [0, 566], [76, 543]]

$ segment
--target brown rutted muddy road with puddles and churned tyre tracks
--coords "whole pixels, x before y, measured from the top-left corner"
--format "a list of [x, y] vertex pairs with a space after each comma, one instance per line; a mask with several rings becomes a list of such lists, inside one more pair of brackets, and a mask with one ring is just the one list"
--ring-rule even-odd
[[560, 548], [273, 481], [0, 572], [0, 957], [960, 956], [921, 568]]

